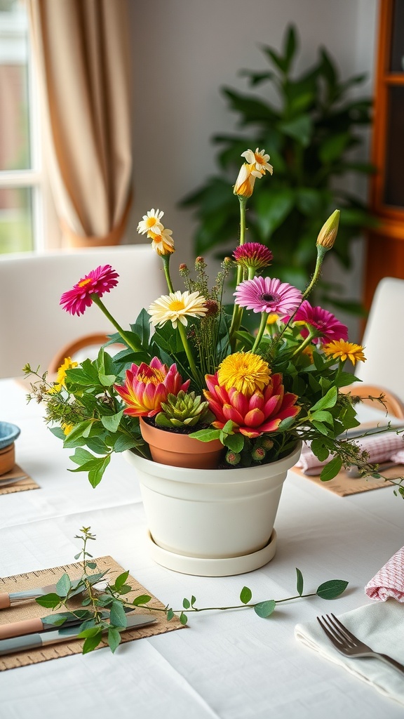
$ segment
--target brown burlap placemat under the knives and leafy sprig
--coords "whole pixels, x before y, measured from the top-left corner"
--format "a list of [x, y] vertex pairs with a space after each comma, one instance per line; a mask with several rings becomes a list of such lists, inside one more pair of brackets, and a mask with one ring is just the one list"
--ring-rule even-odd
[[[99, 557], [95, 560], [97, 562], [98, 569], [104, 572], [106, 569], [107, 576], [114, 580], [119, 574], [124, 572], [124, 569], [115, 562], [112, 557]], [[66, 564], [62, 567], [53, 567], [52, 569], [40, 569], [38, 572], [28, 572], [27, 574], [17, 574], [14, 577], [0, 578], [0, 592], [20, 592], [24, 589], [33, 589], [35, 587], [44, 587], [50, 584], [55, 584], [62, 574], [67, 572], [70, 579], [78, 579], [83, 573], [83, 566], [80, 562], [75, 564]], [[133, 587], [133, 591], [126, 595], [128, 601], [134, 600], [134, 597], [139, 595], [147, 594], [152, 597], [147, 607], [160, 608], [165, 607], [151, 592], [147, 591], [142, 585], [134, 579], [134, 577], [127, 578], [127, 584]], [[80, 603], [80, 602], [79, 602]], [[79, 604], [78, 603], [78, 604]], [[137, 609], [139, 613], [149, 614], [149, 611], [140, 607]], [[41, 607], [35, 602], [35, 600], [29, 600], [21, 602], [19, 604], [12, 605], [8, 609], [0, 610], [0, 624], [7, 622], [16, 622], [22, 619], [32, 619], [35, 617], [45, 617], [51, 614], [52, 611]], [[133, 639], [141, 639], [147, 636], [155, 636], [156, 634], [163, 634], [167, 631], [173, 631], [175, 629], [182, 629], [183, 625], [180, 623], [178, 617], [174, 617], [172, 620], [167, 621], [164, 612], [150, 612], [151, 616], [155, 616], [157, 621], [149, 626], [140, 627], [139, 629], [128, 629], [121, 635], [122, 644]], [[106, 642], [102, 642], [97, 649], [108, 646]], [[60, 659], [62, 656], [69, 656], [70, 654], [80, 654], [83, 649], [83, 639], [71, 639], [65, 641], [63, 644], [55, 644], [54, 646], [43, 646], [39, 649], [29, 649], [27, 651], [19, 651], [9, 656], [0, 656], [0, 671], [5, 669], [15, 669], [16, 667], [25, 667], [27, 664], [38, 664], [40, 661], [47, 661], [48, 659]], [[117, 649], [116, 651], [119, 651]]]

